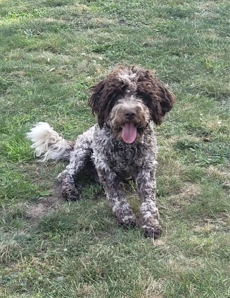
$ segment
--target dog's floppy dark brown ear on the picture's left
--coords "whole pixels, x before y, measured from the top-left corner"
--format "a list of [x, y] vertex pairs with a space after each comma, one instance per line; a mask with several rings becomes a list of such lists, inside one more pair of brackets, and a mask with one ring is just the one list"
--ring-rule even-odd
[[89, 98], [89, 106], [92, 108], [92, 113], [98, 116], [100, 128], [106, 123], [118, 96], [124, 93], [124, 88], [124, 84], [118, 80], [115, 72], [112, 72], [104, 80], [89, 89], [89, 92], [92, 92]]

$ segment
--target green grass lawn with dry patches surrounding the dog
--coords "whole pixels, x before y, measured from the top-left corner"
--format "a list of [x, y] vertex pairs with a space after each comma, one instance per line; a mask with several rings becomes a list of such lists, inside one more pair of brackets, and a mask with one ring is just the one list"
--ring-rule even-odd
[[[228, 20], [228, 1], [0, 0], [0, 297], [229, 297]], [[64, 162], [39, 163], [24, 135], [45, 121], [74, 140], [96, 122], [87, 89], [121, 63], [177, 96], [156, 128], [156, 241], [90, 181], [59, 198]]]

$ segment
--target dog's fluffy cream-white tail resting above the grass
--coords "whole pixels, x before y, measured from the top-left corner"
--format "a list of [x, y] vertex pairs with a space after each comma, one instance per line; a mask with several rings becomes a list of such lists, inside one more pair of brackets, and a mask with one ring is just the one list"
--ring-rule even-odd
[[34, 154], [43, 157], [41, 162], [46, 162], [48, 159], [69, 160], [75, 145], [75, 142], [66, 141], [59, 136], [46, 122], [34, 125], [27, 133], [27, 138], [33, 142], [31, 148], [34, 149]]

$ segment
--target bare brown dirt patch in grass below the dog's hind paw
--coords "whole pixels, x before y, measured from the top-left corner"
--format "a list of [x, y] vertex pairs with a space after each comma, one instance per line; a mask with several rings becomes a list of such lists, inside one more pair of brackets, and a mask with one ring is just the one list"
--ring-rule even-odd
[[58, 195], [40, 198], [26, 211], [26, 220], [30, 224], [33, 224], [41, 216], [58, 209], [64, 202], [64, 198], [61, 198]]

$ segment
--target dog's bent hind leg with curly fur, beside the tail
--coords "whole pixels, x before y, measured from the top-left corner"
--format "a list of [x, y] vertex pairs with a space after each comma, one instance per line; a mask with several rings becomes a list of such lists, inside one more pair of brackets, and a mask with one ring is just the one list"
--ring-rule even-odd
[[70, 164], [58, 175], [58, 186], [62, 196], [67, 201], [78, 199], [78, 190], [75, 184], [75, 177], [85, 170], [92, 155], [92, 136], [94, 127], [84, 134], [78, 136], [74, 150], [70, 156]]

